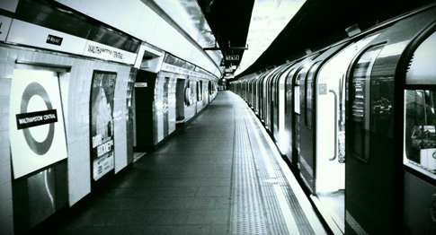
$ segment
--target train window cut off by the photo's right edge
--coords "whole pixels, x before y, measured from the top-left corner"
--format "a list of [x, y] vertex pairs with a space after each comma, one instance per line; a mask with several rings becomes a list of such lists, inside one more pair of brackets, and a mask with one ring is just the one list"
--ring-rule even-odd
[[436, 91], [405, 91], [405, 157], [436, 174]]

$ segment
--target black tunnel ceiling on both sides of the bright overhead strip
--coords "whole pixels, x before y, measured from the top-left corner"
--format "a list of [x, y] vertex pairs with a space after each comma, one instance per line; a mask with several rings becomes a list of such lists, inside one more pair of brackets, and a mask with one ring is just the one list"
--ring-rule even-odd
[[[274, 1], [274, 0], [271, 0]], [[280, 2], [280, 0], [275, 0]], [[230, 47], [245, 47], [254, 0], [198, 0], [215, 33], [223, 54]], [[358, 24], [360, 30], [398, 14], [432, 3], [430, 0], [307, 0], [261, 57], [244, 73], [252, 74], [292, 57], [305, 55], [347, 37], [345, 29]], [[227, 51], [226, 51], [227, 49]], [[243, 57], [244, 50], [233, 51]], [[234, 64], [238, 65], [234, 62]]]

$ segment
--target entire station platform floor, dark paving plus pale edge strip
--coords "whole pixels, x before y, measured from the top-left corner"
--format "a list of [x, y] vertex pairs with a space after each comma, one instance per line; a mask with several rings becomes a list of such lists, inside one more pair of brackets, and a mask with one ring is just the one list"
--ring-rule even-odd
[[161, 148], [85, 200], [50, 233], [327, 234], [258, 119], [231, 91], [219, 91]]

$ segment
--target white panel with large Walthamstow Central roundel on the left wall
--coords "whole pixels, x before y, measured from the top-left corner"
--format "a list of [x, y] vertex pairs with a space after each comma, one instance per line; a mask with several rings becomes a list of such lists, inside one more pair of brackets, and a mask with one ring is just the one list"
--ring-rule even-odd
[[58, 74], [13, 70], [9, 135], [13, 178], [67, 158]]

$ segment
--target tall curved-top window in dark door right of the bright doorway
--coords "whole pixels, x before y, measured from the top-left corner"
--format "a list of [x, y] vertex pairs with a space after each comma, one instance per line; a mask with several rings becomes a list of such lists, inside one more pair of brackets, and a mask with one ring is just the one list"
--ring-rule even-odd
[[352, 67], [350, 84], [350, 150], [361, 161], [369, 161], [369, 87], [372, 66], [384, 46], [370, 48]]

